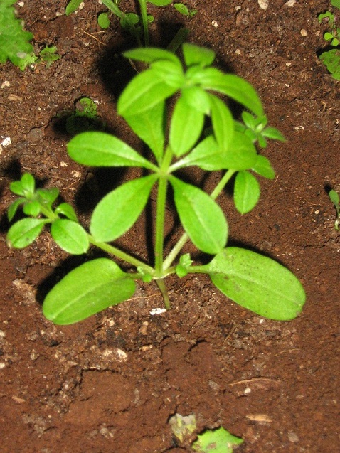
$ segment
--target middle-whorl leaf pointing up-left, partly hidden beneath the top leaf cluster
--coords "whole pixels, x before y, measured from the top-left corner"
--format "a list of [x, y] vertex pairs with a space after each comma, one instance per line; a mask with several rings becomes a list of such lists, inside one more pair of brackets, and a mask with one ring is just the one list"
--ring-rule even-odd
[[164, 151], [165, 102], [134, 116], [125, 115], [129, 127], [149, 146], [157, 161]]

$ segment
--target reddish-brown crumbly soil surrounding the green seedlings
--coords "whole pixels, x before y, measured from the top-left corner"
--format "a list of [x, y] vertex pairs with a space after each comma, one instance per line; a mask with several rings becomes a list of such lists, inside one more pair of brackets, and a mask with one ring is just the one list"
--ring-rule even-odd
[[[189, 41], [213, 48], [217, 65], [249, 80], [272, 126], [287, 142], [265, 150], [275, 181], [239, 215], [230, 196], [230, 243], [261, 251], [289, 267], [307, 303], [294, 321], [275, 322], [230, 302], [205, 277], [169, 280], [173, 309], [156, 286], [74, 326], [43, 318], [41, 302], [85, 257], [68, 257], [43, 233], [26, 250], [6, 245], [9, 183], [31, 172], [58, 186], [86, 221], [107, 174], [70, 160], [70, 137], [56, 120], [81, 96], [98, 102], [107, 129], [138, 146], [116, 117], [119, 92], [133, 75], [119, 57], [131, 46], [119, 25], [100, 31], [103, 7], [85, 1], [65, 17], [66, 1], [26, 0], [18, 13], [36, 50], [58, 47], [60, 60], [24, 72], [0, 66], [0, 450], [32, 453], [191, 452], [171, 434], [169, 417], [196, 415], [198, 429], [223, 426], [244, 439], [243, 453], [336, 453], [339, 439], [339, 233], [326, 189], [340, 189], [339, 82], [317, 58], [324, 46], [317, 14], [328, 1], [186, 1], [154, 11], [152, 40], [166, 46], [181, 25]], [[116, 175], [117, 176], [117, 175]], [[127, 172], [124, 178], [134, 176]], [[207, 186], [212, 186], [213, 177]], [[169, 213], [169, 224], [173, 222]], [[147, 257], [144, 218], [122, 243]], [[188, 246], [188, 250], [191, 250]], [[195, 435], [193, 435], [193, 438]]]

